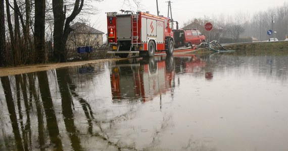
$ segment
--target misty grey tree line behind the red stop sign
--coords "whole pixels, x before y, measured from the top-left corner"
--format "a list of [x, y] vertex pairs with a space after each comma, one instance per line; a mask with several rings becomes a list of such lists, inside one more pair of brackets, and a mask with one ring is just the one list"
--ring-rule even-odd
[[[273, 20], [273, 21], [272, 21]], [[204, 29], [207, 22], [213, 24], [213, 29], [209, 33]], [[223, 14], [213, 17], [202, 17], [191, 19], [183, 23], [183, 26], [193, 25], [192, 28], [198, 28], [207, 37], [210, 34], [210, 40], [220, 40], [223, 37], [229, 37], [238, 42], [241, 37], [255, 37], [259, 41], [268, 40], [269, 29], [276, 31], [275, 36], [279, 40], [284, 40], [288, 34], [288, 4], [257, 12], [253, 15], [237, 13], [233, 16]]]

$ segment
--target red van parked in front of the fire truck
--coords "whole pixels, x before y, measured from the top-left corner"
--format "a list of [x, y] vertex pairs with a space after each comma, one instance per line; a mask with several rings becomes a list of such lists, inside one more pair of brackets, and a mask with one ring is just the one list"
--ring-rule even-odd
[[174, 47], [181, 46], [190, 47], [191, 45], [199, 45], [205, 42], [206, 37], [199, 30], [183, 30], [178, 29], [173, 31]]

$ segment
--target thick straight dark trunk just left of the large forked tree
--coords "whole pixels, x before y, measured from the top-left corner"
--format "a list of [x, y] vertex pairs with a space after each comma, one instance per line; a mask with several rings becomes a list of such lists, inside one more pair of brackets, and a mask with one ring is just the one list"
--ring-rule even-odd
[[45, 62], [45, 0], [35, 1], [35, 63]]

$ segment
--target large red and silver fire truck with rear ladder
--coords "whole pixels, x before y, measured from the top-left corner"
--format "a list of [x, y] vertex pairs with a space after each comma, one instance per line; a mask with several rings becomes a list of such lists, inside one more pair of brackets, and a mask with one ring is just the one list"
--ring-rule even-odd
[[159, 51], [165, 51], [167, 55], [173, 54], [172, 20], [148, 12], [121, 12], [122, 14], [106, 13], [108, 44], [112, 48], [108, 53], [115, 53], [120, 57], [127, 57], [129, 53], [154, 56]]

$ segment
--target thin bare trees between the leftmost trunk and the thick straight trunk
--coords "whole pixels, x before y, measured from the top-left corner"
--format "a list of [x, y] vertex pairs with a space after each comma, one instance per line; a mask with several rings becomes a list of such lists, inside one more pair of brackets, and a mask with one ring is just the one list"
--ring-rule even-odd
[[[13, 65], [33, 63], [31, 61], [32, 41], [30, 38], [31, 8], [29, 0], [14, 0], [10, 3], [6, 0], [6, 16], [8, 25], [8, 38], [10, 47], [7, 48], [7, 63]], [[14, 23], [13, 23], [14, 21]]]

